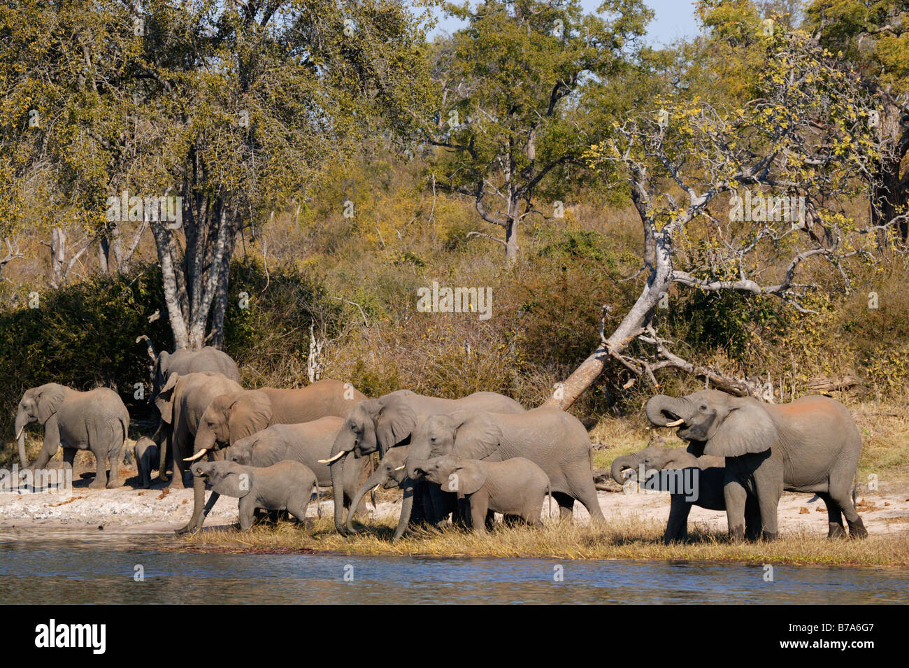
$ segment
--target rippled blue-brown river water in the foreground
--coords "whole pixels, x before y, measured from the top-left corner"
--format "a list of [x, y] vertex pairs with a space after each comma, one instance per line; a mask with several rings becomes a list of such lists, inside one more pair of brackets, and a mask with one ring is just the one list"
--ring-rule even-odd
[[0, 533], [0, 602], [909, 603], [909, 570], [899, 568], [777, 565], [768, 583], [761, 566], [744, 564], [167, 549], [175, 544], [141, 534]]

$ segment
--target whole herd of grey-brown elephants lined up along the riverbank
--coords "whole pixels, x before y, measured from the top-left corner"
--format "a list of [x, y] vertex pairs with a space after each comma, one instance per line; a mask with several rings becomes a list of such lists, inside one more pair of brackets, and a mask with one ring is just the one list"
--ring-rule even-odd
[[[449, 517], [475, 532], [491, 528], [494, 513], [536, 525], [547, 494], [562, 518], [578, 501], [592, 523], [605, 522], [590, 438], [577, 418], [558, 409], [527, 410], [494, 392], [444, 399], [398, 390], [370, 399], [331, 379], [301, 389], [245, 390], [235, 362], [210, 347], [159, 354], [152, 384], [158, 430], [136, 442], [136, 466], [146, 487], [155, 468], [162, 480], [172, 469], [174, 486], [192, 478], [193, 514], [176, 533], [201, 528], [219, 494], [239, 498], [242, 529], [257, 509], [303, 521], [319, 486], [332, 487], [335, 528], [345, 534], [356, 533], [355, 510], [380, 485], [403, 491], [395, 540], [415, 523], [439, 525]], [[643, 475], [640, 484], [652, 486], [667, 471], [693, 474], [694, 494], [666, 490], [665, 542], [686, 538], [692, 505], [725, 510], [734, 539], [774, 539], [784, 490], [824, 500], [828, 536], [846, 535], [843, 516], [849, 536], [867, 535], [852, 494], [862, 440], [843, 404], [825, 396], [764, 404], [704, 390], [654, 396], [646, 414], [654, 427], [678, 428], [688, 447], [651, 446], [618, 457], [612, 476], [624, 484]], [[120, 484], [129, 414], [114, 391], [61, 384], [27, 390], [15, 416], [23, 466], [24, 430], [32, 423], [44, 426], [44, 444], [31, 468], [45, 467], [61, 446], [64, 465], [72, 466], [76, 451], [87, 449], [97, 461], [90, 486]], [[373, 453], [379, 463], [365, 477]]]

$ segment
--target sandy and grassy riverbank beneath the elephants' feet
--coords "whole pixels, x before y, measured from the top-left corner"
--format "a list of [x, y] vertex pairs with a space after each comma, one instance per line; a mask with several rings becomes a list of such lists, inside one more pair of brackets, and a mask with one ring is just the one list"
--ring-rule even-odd
[[[77, 486], [71, 494], [4, 493], [0, 494], [0, 530], [26, 529], [48, 536], [86, 529], [171, 536], [192, 514], [192, 494], [190, 489], [136, 490], [128, 485], [114, 490]], [[417, 531], [397, 543], [390, 540], [400, 509], [394, 495], [376, 495], [376, 507], [370, 505], [368, 517], [355, 522], [361, 533], [353, 538], [335, 533], [330, 494], [323, 498], [318, 506], [310, 504], [305, 528], [279, 523], [249, 532], [236, 528], [235, 500], [221, 499], [202, 532], [177, 542], [168, 539], [165, 549], [909, 566], [909, 494], [905, 484], [897, 481], [888, 481], [873, 494], [860, 494], [859, 513], [870, 533], [864, 541], [826, 540], [824, 503], [812, 502], [807, 494], [784, 494], [779, 508], [781, 539], [774, 543], [729, 543], [725, 513], [695, 507], [689, 542], [668, 546], [661, 542], [668, 494], [601, 492], [600, 507], [607, 520], [602, 529], [588, 525], [589, 516], [578, 503], [572, 523], [544, 517], [542, 529], [501, 527], [484, 536], [453, 528]], [[554, 507], [554, 515], [557, 512]]]

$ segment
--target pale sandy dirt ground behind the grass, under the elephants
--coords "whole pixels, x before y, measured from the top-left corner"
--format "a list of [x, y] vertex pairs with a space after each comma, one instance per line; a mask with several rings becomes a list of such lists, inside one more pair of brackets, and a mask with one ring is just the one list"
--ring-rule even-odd
[[[102, 529], [126, 530], [130, 533], [168, 533], [183, 526], [193, 511], [193, 491], [191, 489], [168, 488], [162, 483], [153, 483], [152, 489], [143, 490], [134, 487], [138, 484], [135, 478], [135, 466], [124, 466], [121, 469], [121, 480], [125, 484], [117, 489], [92, 490], [87, 485], [90, 478], [82, 477], [85, 472], [94, 471], [94, 458], [91, 461], [76, 461], [73, 490], [69, 494], [15, 492], [0, 493], [0, 529], [20, 528], [35, 529], [45, 527], [85, 529], [89, 527]], [[153, 478], [156, 474], [153, 474]], [[207, 493], [206, 493], [207, 496]], [[323, 514], [333, 512], [331, 490], [323, 490], [319, 503]], [[378, 507], [371, 514], [375, 516], [397, 517], [400, 502], [395, 503], [391, 494], [378, 493]], [[625, 518], [642, 521], [656, 520], [665, 523], [669, 516], [669, 495], [658, 494], [623, 494], [622, 492], [600, 492], [600, 507], [606, 519]], [[909, 487], [904, 482], [882, 482], [875, 492], [858, 494], [858, 511], [862, 516], [869, 533], [909, 532]], [[316, 503], [311, 503], [308, 514], [317, 514]], [[544, 507], [544, 515], [547, 509]], [[553, 513], [558, 513], [553, 503]], [[586, 522], [589, 515], [580, 503], [574, 504], [574, 516], [578, 521]], [[237, 521], [237, 502], [235, 499], [221, 498], [215, 503], [209, 514], [206, 526], [229, 525]], [[809, 494], [784, 494], [779, 506], [779, 524], [781, 533], [806, 533], [825, 535], [827, 533], [827, 514], [824, 502], [811, 501]], [[689, 517], [689, 528], [724, 530], [725, 513], [704, 510], [694, 507]]]

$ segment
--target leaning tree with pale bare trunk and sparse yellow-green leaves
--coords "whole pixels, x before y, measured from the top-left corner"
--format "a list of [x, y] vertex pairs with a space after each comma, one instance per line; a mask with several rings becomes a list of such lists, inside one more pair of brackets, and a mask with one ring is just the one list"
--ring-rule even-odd
[[[754, 394], [753, 379], [686, 361], [659, 336], [654, 313], [672, 286], [770, 295], [810, 312], [802, 302], [816, 285], [800, 281], [803, 264], [826, 262], [848, 288], [848, 261], [874, 260], [882, 227], [857, 223], [848, 210], [886, 155], [869, 123], [874, 99], [804, 32], [766, 36], [764, 56], [762, 95], [743, 107], [725, 109], [694, 94], [656, 100], [654, 111], [616, 124], [614, 139], [592, 148], [594, 165], [619, 168], [617, 184], [628, 188], [639, 215], [644, 284], [547, 405], [573, 404], [607, 360], [654, 386], [654, 372], [674, 367]], [[629, 354], [633, 343], [644, 352]]]

